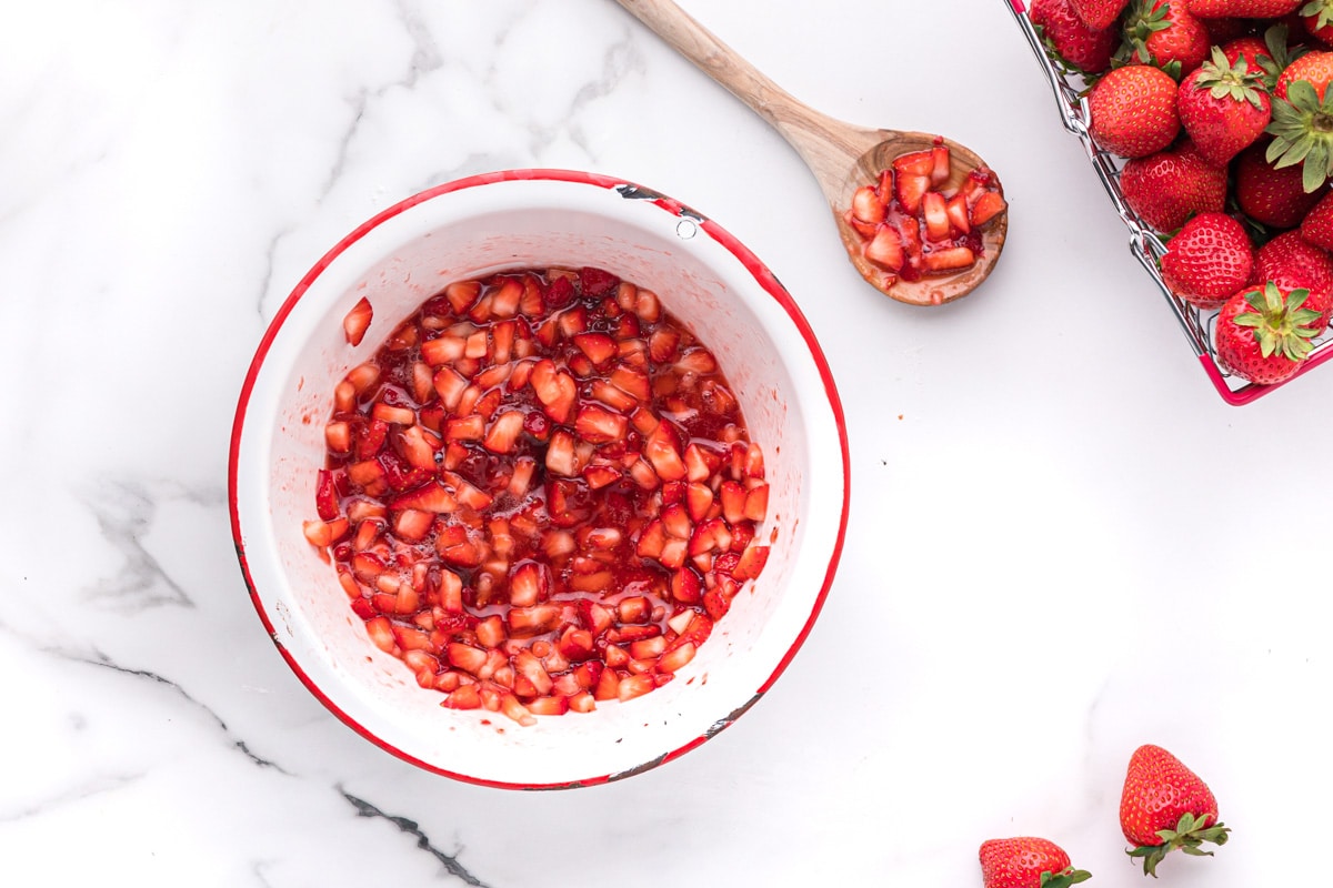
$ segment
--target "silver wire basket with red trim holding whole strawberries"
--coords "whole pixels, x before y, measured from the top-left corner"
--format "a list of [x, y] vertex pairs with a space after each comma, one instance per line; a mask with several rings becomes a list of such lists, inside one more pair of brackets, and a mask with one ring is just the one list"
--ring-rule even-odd
[[[1022, 0], [1005, 0], [1010, 12], [1013, 12], [1014, 21], [1018, 23], [1018, 28], [1022, 31], [1024, 37], [1028, 39], [1028, 45], [1032, 48], [1033, 55], [1037, 56], [1037, 61], [1041, 63], [1041, 71], [1046, 75], [1046, 80], [1050, 81], [1050, 91], [1056, 96], [1056, 105], [1060, 109], [1060, 118], [1065, 125], [1065, 129], [1078, 137], [1078, 141], [1084, 146], [1088, 158], [1092, 161], [1092, 168], [1097, 173], [1098, 181], [1101, 181], [1102, 188], [1106, 189], [1106, 194], [1110, 197], [1110, 202], [1116, 208], [1116, 214], [1120, 216], [1125, 228], [1129, 229], [1129, 252], [1133, 253], [1138, 264], [1144, 266], [1148, 276], [1157, 285], [1158, 292], [1162, 298], [1166, 300], [1166, 305], [1170, 306], [1172, 313], [1180, 322], [1181, 330], [1185, 333], [1185, 338], [1189, 341], [1190, 347], [1194, 350], [1194, 355], [1198, 358], [1204, 367], [1204, 373], [1213, 382], [1217, 393], [1222, 395], [1222, 399], [1230, 405], [1244, 405], [1260, 398], [1273, 389], [1278, 389], [1286, 382], [1278, 385], [1256, 385], [1253, 382], [1246, 382], [1240, 377], [1232, 375], [1224, 370], [1217, 363], [1217, 355], [1213, 353], [1213, 325], [1217, 321], [1217, 310], [1201, 310], [1185, 302], [1184, 300], [1172, 294], [1162, 281], [1161, 269], [1158, 268], [1158, 261], [1166, 253], [1166, 246], [1162, 244], [1161, 238], [1146, 225], [1133, 209], [1125, 204], [1125, 196], [1120, 189], [1120, 170], [1124, 166], [1124, 160], [1116, 157], [1114, 154], [1101, 150], [1092, 140], [1092, 134], [1088, 132], [1088, 100], [1081, 93], [1085, 91], [1086, 84], [1077, 75], [1069, 75], [1061, 71], [1062, 65], [1060, 61], [1048, 52], [1045, 44], [1037, 36], [1032, 21], [1028, 19], [1026, 8]], [[1302, 362], [1300, 371], [1296, 377], [1304, 375], [1313, 370], [1316, 366], [1324, 363], [1325, 361], [1333, 358], [1333, 332], [1325, 333], [1318, 339], [1316, 339], [1314, 350]], [[1293, 379], [1296, 377], [1292, 377]], [[1290, 382], [1290, 379], [1288, 379]]]

